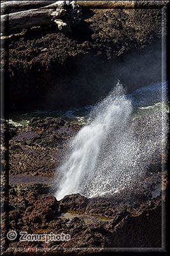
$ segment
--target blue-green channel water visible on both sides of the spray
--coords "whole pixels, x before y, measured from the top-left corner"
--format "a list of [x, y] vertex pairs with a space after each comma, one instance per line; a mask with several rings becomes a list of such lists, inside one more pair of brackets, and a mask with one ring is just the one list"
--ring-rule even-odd
[[[152, 112], [169, 111], [169, 102], [167, 100], [168, 83], [158, 82], [148, 84], [131, 94], [127, 94], [127, 99], [132, 100], [133, 116], [148, 115]], [[9, 122], [15, 126], [27, 125], [32, 117], [46, 118], [47, 116], [60, 117], [68, 122], [76, 124], [88, 124], [90, 122], [90, 113], [94, 106], [89, 105], [83, 108], [69, 108], [59, 110], [41, 111], [35, 109], [30, 112], [17, 111], [10, 113]]]

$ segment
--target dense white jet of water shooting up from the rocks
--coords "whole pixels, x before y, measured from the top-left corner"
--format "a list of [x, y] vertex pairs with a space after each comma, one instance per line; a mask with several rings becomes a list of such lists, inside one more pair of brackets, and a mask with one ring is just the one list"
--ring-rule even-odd
[[120, 129], [131, 112], [131, 100], [126, 99], [124, 89], [118, 82], [110, 95], [92, 111], [92, 122], [83, 127], [71, 141], [71, 154], [60, 167], [63, 177], [56, 193], [57, 200], [71, 193], [83, 193], [87, 189], [111, 129]]

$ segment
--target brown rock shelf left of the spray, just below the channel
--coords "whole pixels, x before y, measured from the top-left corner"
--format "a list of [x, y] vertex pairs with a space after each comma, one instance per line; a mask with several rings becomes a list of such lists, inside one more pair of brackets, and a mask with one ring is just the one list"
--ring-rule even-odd
[[[32, 118], [10, 140], [10, 174], [53, 175], [68, 141], [80, 127], [61, 118]], [[13, 126], [9, 131], [13, 131]]]

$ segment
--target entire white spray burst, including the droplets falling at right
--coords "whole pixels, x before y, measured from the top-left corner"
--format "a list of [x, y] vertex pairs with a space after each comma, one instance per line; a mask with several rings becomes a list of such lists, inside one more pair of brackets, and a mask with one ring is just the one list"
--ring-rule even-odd
[[[148, 113], [150, 104], [161, 101], [161, 86], [166, 83], [150, 84], [125, 95], [118, 82], [94, 107], [90, 124], [71, 140], [66, 161], [59, 168], [62, 179], [57, 200], [72, 193], [89, 198], [113, 194], [151, 172], [161, 172], [162, 139], [167, 130], [162, 116], [166, 112]], [[145, 108], [139, 109], [142, 106]], [[138, 115], [136, 109], [143, 113]]]

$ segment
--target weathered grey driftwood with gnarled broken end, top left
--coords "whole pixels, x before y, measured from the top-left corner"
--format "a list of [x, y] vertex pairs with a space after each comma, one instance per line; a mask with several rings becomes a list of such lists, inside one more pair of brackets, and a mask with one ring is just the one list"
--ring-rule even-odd
[[[45, 3], [48, 5], [45, 5]], [[1, 31], [4, 31], [5, 26], [8, 26], [9, 34], [21, 29], [50, 24], [57, 24], [57, 27], [63, 31], [71, 31], [70, 23], [80, 22], [81, 10], [76, 6], [76, 1], [9, 1], [3, 4], [6, 4], [5, 7], [3, 5], [3, 8], [8, 6], [9, 12], [10, 7], [15, 6], [15, 12], [1, 15]], [[18, 12], [17, 7], [21, 8], [21, 6], [24, 8], [41, 7]]]

